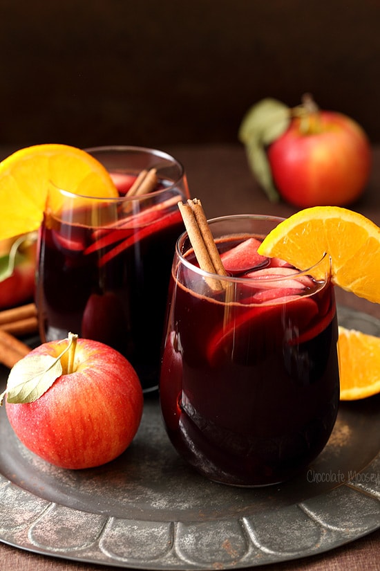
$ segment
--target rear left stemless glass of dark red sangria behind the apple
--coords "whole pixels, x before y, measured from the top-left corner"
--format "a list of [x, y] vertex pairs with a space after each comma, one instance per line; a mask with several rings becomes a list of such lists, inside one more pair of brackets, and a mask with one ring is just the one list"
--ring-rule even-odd
[[[158, 386], [173, 248], [189, 197], [182, 165], [142, 147], [86, 149], [110, 172], [120, 197], [81, 197], [50, 186], [39, 235], [37, 309], [42, 341], [68, 332], [102, 341], [131, 361], [145, 392]], [[129, 196], [142, 171], [155, 188]]]

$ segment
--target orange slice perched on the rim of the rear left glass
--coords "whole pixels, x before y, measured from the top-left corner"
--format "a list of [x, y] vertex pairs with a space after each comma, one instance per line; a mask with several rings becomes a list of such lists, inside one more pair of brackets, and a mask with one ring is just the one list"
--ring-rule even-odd
[[0, 239], [37, 230], [48, 186], [90, 197], [117, 197], [105, 167], [68, 145], [34, 145], [0, 163]]

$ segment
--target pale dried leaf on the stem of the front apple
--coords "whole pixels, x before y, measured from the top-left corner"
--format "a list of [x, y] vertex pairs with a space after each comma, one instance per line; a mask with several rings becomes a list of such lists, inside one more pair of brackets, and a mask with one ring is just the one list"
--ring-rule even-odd
[[31, 355], [10, 371], [6, 392], [10, 403], [37, 401], [62, 374], [61, 355]]

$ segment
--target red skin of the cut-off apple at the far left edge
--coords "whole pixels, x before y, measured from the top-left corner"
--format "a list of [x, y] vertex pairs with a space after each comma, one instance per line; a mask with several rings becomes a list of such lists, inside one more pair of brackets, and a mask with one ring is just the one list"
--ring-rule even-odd
[[[1, 244], [0, 255], [8, 255], [11, 242]], [[32, 300], [35, 295], [36, 244], [17, 257], [12, 275], [0, 282], [0, 310]]]

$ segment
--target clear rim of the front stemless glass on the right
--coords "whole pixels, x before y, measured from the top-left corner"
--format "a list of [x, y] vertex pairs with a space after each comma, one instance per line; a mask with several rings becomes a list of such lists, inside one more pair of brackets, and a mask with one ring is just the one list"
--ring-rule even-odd
[[[211, 218], [211, 219], [208, 219], [207, 222], [209, 224], [212, 224], [213, 222], [216, 222], [216, 221], [229, 221], [231, 219], [239, 219], [239, 218], [240, 219], [262, 220], [262, 221], [278, 221], [278, 224], [280, 222], [282, 222], [283, 220], [285, 220], [285, 218], [278, 217], [278, 216], [272, 216], [272, 215], [236, 214], [236, 215], [227, 215], [227, 216], [219, 216], [216, 218]], [[175, 255], [177, 255], [181, 264], [186, 266], [191, 271], [202, 276], [202, 278], [208, 278], [208, 279], [211, 278], [213, 280], [218, 280], [218, 281], [222, 280], [222, 281], [227, 281], [227, 282], [232, 282], [232, 283], [247, 284], [247, 278], [245, 278], [243, 276], [220, 275], [218, 273], [208, 272], [206, 270], [202, 270], [199, 266], [195, 266], [194, 264], [189, 262], [189, 260], [187, 260], [187, 257], [185, 257], [180, 250], [180, 244], [183, 244], [184, 240], [187, 237], [188, 237], [187, 230], [184, 230], [184, 232], [182, 232], [180, 237], [178, 237], [177, 242], [175, 243]], [[191, 248], [192, 248], [192, 246], [191, 246]], [[191, 249], [191, 248], [189, 248], [189, 249]], [[297, 268], [294, 268], [294, 273], [290, 273], [287, 275], [278, 275], [275, 278], [267, 278], [267, 280], [265, 280], [265, 283], [267, 283], [267, 282], [282, 282], [284, 280], [289, 280], [292, 278], [298, 278], [299, 276], [302, 276], [302, 275], [312, 274], [312, 270], [314, 268], [316, 268], [317, 266], [319, 266], [320, 264], [322, 264], [322, 262], [324, 260], [326, 260], [326, 257], [329, 257], [329, 260], [330, 260], [330, 256], [328, 255], [328, 253], [324, 252], [322, 257], [317, 262], [315, 262], [315, 264], [312, 264], [312, 266], [310, 266], [309, 268], [307, 268], [305, 270], [299, 270]], [[331, 275], [331, 262], [329, 263], [329, 269], [330, 269], [330, 271], [327, 274], [328, 277], [330, 277], [330, 275]], [[254, 269], [252, 269], [252, 271], [254, 271]], [[249, 277], [249, 282], [258, 282], [258, 281], [259, 281], [259, 278]]]

